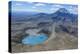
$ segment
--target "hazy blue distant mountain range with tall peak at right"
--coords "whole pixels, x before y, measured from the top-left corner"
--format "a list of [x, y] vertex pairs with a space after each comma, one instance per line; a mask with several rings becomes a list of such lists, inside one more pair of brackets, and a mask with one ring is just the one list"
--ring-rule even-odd
[[60, 8], [58, 11], [52, 14], [47, 13], [13, 13], [12, 20], [14, 21], [44, 21], [53, 20], [54, 22], [70, 20], [72, 22], [77, 22], [78, 15], [71, 14], [65, 8]]

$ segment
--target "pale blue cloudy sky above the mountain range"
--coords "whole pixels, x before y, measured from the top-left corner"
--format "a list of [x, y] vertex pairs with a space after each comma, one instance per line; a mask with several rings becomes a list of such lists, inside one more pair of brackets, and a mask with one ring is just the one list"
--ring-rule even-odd
[[13, 1], [11, 4], [12, 12], [43, 12], [54, 13], [60, 8], [67, 9], [70, 13], [77, 14], [77, 5], [69, 4], [53, 4], [53, 3], [41, 3], [41, 2], [22, 2]]

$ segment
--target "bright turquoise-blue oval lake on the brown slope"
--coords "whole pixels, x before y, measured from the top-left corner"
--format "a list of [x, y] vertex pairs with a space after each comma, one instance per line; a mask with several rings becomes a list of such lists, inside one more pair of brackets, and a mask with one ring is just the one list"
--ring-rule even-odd
[[39, 34], [36, 36], [27, 36], [22, 40], [23, 44], [27, 44], [27, 45], [37, 45], [37, 44], [42, 44], [44, 41], [46, 41], [48, 39], [48, 36], [46, 34]]

